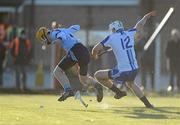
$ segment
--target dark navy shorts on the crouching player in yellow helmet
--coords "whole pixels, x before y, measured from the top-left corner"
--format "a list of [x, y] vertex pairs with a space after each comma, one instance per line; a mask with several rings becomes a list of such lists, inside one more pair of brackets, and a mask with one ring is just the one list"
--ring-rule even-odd
[[66, 71], [67, 69], [78, 63], [80, 67], [80, 75], [87, 75], [88, 63], [90, 61], [90, 53], [88, 49], [81, 43], [75, 44], [68, 54], [60, 61], [59, 67]]

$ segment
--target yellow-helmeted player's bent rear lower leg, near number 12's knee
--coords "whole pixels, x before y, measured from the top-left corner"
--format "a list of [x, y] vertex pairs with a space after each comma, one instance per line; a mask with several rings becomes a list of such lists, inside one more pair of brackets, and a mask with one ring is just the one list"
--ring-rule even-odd
[[79, 75], [79, 80], [82, 84], [85, 84], [85, 86], [88, 85], [93, 85], [94, 88], [96, 89], [96, 97], [97, 97], [97, 101], [101, 102], [103, 99], [103, 87], [101, 86], [101, 84], [95, 80], [93, 77], [91, 76], [83, 76], [83, 75]]

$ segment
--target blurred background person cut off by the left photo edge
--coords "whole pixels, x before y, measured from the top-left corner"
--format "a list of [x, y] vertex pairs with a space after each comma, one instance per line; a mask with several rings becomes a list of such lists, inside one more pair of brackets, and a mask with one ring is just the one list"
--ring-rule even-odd
[[3, 86], [3, 71], [6, 63], [6, 47], [4, 45], [5, 31], [4, 26], [0, 25], [0, 88]]

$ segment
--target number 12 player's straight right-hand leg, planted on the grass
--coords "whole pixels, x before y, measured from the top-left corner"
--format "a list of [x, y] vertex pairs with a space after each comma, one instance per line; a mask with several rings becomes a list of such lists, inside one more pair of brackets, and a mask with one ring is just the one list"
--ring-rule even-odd
[[154, 106], [149, 102], [141, 89], [134, 83], [134, 81], [127, 82], [127, 86], [132, 92], [144, 103], [147, 108], [154, 108]]

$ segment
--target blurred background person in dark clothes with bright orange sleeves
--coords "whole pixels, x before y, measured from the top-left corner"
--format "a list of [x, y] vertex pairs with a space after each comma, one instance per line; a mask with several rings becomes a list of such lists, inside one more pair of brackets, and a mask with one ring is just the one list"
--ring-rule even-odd
[[20, 32], [11, 43], [11, 54], [14, 59], [16, 89], [26, 90], [26, 66], [31, 60], [31, 42], [26, 36], [25, 30]]

